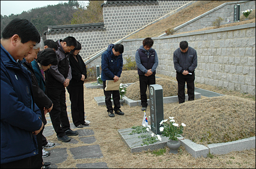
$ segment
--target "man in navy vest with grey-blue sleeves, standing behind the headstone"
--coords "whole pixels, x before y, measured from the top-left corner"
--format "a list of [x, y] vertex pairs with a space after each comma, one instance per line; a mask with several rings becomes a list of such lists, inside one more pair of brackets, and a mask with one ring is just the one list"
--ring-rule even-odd
[[145, 38], [143, 45], [136, 51], [135, 60], [138, 67], [140, 79], [140, 98], [141, 110], [146, 110], [147, 96], [146, 89], [150, 85], [156, 84], [156, 68], [158, 66], [158, 57], [155, 49], [152, 48], [154, 41], [151, 38]]

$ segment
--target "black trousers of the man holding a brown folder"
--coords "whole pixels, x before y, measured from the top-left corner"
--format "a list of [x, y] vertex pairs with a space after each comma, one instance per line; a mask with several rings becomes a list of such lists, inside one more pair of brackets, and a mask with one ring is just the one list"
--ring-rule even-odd
[[105, 95], [106, 108], [108, 109], [108, 111], [113, 110], [112, 102], [111, 102], [111, 94], [112, 94], [113, 101], [114, 101], [114, 111], [117, 111], [121, 107], [119, 90], [105, 91], [105, 87], [106, 87], [106, 81], [103, 81], [103, 90]]

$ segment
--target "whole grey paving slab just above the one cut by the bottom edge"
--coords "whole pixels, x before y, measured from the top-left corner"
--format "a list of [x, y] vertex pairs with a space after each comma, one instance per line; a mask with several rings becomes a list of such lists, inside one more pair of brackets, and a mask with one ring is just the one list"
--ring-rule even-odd
[[74, 159], [102, 158], [99, 145], [81, 146], [69, 149]]

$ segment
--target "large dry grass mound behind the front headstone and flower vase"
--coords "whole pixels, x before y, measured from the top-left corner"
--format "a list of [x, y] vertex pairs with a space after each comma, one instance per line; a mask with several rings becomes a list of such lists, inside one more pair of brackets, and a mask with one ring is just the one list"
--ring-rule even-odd
[[165, 117], [173, 116], [178, 123], [186, 124], [182, 135], [197, 144], [255, 136], [255, 102], [248, 99], [211, 97], [179, 104], [170, 112]]

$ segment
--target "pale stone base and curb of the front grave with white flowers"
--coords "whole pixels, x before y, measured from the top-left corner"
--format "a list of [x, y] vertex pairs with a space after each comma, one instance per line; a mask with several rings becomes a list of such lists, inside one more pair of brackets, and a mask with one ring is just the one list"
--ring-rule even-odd
[[[161, 136], [162, 138], [161, 142], [158, 141], [148, 146], [147, 145], [141, 146], [143, 138], [138, 138], [138, 136], [142, 134], [152, 134], [152, 131], [146, 132], [146, 133], [140, 133], [140, 134], [135, 133], [135, 134], [129, 135], [129, 133], [131, 133], [132, 130], [134, 129], [127, 128], [127, 129], [117, 130], [121, 139], [123, 140], [127, 148], [129, 148], [131, 153], [161, 149], [166, 147], [166, 142], [168, 141], [168, 137], [164, 137], [164, 136]], [[236, 140], [233, 142], [210, 144], [210, 145], [207, 145], [207, 147], [204, 145], [196, 144], [189, 139], [184, 139], [183, 137], [179, 137], [179, 140], [181, 142], [181, 146], [185, 147], [186, 151], [195, 158], [202, 157], [202, 156], [206, 158], [209, 153], [221, 155], [221, 154], [230, 153], [231, 151], [243, 151], [243, 150], [250, 150], [255, 148], [255, 136]]]

